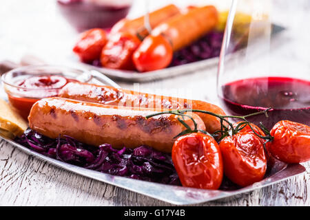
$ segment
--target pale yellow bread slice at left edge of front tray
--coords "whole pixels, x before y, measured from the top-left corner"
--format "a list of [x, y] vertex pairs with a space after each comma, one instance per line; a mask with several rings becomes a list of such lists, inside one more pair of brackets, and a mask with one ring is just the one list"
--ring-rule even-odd
[[27, 122], [21, 118], [8, 102], [0, 98], [0, 129], [18, 136], [22, 135], [27, 127]]

